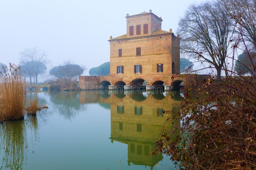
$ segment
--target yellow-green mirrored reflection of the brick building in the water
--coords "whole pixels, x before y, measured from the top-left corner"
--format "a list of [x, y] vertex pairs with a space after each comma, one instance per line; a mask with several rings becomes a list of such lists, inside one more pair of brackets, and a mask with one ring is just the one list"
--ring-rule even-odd
[[[102, 92], [101, 92], [102, 93]], [[112, 94], [111, 94], [112, 93]], [[174, 96], [160, 92], [145, 91], [112, 91], [98, 94], [97, 91], [79, 94], [80, 103], [109, 104], [111, 110], [110, 139], [128, 145], [128, 165], [150, 166], [163, 159], [162, 154], [153, 156], [155, 142], [163, 128], [167, 116], [162, 110], [180, 108], [180, 92], [174, 91]], [[173, 111], [174, 112], [174, 111]], [[173, 123], [173, 124], [172, 124]], [[179, 124], [179, 120], [172, 120], [165, 128]]]

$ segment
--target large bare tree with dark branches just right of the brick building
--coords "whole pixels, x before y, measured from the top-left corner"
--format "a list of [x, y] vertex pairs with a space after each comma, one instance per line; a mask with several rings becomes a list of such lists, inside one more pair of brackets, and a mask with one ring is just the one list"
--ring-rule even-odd
[[230, 46], [234, 27], [220, 0], [203, 4], [192, 4], [180, 19], [181, 53], [207, 62], [216, 68], [220, 78], [221, 69]]

